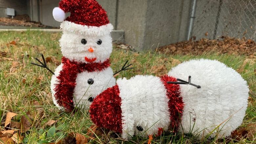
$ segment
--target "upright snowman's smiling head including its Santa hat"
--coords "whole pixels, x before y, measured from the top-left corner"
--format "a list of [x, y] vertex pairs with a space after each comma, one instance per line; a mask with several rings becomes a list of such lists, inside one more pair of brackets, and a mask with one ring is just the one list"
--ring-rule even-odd
[[[65, 13], [70, 16], [65, 18]], [[112, 24], [96, 0], [61, 0], [53, 17], [62, 22], [59, 40], [64, 57], [83, 63], [102, 63], [112, 52]]]

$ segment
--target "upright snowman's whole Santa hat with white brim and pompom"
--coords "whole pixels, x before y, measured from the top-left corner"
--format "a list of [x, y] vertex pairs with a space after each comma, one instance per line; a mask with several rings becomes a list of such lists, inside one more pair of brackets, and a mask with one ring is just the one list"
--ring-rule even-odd
[[[70, 16], [66, 18], [67, 12]], [[96, 0], [61, 0], [53, 9], [53, 17], [62, 22], [60, 28], [64, 31], [99, 36], [113, 30], [107, 12]]]

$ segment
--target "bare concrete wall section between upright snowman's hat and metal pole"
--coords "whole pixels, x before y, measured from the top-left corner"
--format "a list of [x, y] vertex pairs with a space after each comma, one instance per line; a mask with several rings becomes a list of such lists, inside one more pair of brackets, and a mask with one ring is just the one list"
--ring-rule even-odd
[[119, 0], [117, 30], [137, 50], [155, 49], [185, 40], [189, 0]]

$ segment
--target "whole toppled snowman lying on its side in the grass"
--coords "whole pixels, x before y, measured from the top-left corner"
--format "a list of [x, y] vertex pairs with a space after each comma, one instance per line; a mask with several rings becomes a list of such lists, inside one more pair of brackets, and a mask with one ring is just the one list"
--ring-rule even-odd
[[[177, 78], [193, 78], [191, 85], [167, 84]], [[92, 121], [121, 133], [148, 136], [171, 129], [206, 135], [229, 136], [245, 116], [248, 86], [235, 70], [216, 60], [191, 60], [161, 77], [137, 75], [118, 79], [99, 94], [90, 107]]]

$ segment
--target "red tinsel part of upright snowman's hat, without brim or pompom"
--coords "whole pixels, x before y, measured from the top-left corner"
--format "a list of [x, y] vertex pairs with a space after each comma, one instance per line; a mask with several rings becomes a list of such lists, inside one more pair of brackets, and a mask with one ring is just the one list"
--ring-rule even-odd
[[95, 27], [109, 24], [107, 12], [96, 0], [61, 0], [59, 8], [70, 12], [65, 20], [75, 24]]

